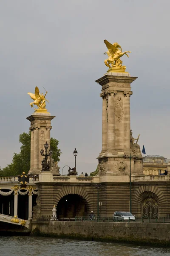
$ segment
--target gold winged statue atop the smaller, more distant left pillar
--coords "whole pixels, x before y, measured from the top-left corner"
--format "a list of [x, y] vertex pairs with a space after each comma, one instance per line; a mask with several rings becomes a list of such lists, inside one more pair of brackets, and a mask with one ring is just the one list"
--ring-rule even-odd
[[[31, 99], [34, 100], [34, 102], [31, 102], [29, 105], [31, 105], [31, 108], [33, 108], [33, 104], [38, 106], [39, 110], [46, 110], [46, 103], [45, 101], [49, 102], [47, 99], [45, 99], [45, 96], [48, 92], [46, 91], [45, 95], [43, 93], [40, 94], [40, 91], [38, 87], [35, 87], [35, 94], [34, 93], [28, 93]], [[37, 111], [36, 108], [34, 108], [35, 111]]]

